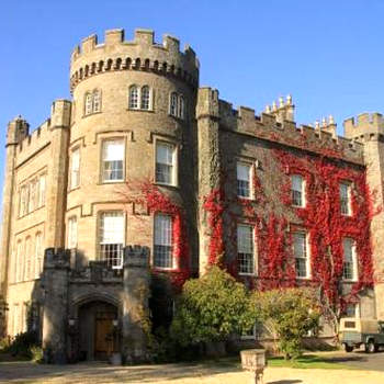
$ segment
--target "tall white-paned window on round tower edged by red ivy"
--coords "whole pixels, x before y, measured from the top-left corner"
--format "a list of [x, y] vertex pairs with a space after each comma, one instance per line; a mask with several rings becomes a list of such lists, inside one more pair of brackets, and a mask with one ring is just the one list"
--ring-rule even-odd
[[154, 267], [173, 268], [172, 259], [172, 217], [155, 215]]

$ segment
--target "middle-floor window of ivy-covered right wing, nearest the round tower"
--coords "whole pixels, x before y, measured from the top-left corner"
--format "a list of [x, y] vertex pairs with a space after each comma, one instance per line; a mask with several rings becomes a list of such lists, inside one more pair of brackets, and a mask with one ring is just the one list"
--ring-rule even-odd
[[240, 274], [255, 273], [253, 228], [250, 225], [237, 226], [237, 264]]

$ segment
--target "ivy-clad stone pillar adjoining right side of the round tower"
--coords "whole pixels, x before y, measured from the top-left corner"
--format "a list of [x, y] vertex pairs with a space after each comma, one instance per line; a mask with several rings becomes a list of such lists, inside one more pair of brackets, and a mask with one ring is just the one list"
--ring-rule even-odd
[[211, 229], [207, 226], [207, 212], [204, 200], [212, 191], [221, 188], [219, 158], [219, 112], [218, 91], [201, 88], [197, 95], [197, 159], [199, 159], [199, 270], [200, 274], [206, 270]]

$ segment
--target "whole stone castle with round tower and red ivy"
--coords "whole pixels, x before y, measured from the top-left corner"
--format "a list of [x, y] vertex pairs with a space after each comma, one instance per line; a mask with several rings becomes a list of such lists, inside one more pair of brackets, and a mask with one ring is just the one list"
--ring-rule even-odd
[[143, 359], [143, 314], [169, 324], [183, 281], [217, 262], [249, 287], [323, 282], [384, 319], [380, 114], [339, 137], [332, 118], [297, 126], [291, 97], [234, 110], [199, 88], [191, 47], [148, 30], [83, 39], [70, 90], [32, 133], [8, 126], [8, 335], [37, 330], [54, 362]]

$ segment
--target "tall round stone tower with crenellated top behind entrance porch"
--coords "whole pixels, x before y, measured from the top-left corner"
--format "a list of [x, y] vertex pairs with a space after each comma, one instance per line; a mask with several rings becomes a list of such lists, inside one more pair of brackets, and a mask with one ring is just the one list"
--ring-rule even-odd
[[[157, 208], [150, 210], [143, 195], [139, 202], [127, 196], [145, 183], [192, 222], [197, 84], [194, 52], [189, 46], [180, 52], [169, 35], [156, 44], [153, 31], [136, 30], [126, 42], [123, 30], [112, 30], [104, 43], [92, 35], [74, 50], [66, 246], [83, 260], [109, 259], [117, 268], [117, 244], [148, 246], [154, 255]], [[194, 228], [185, 230], [195, 242]]]

